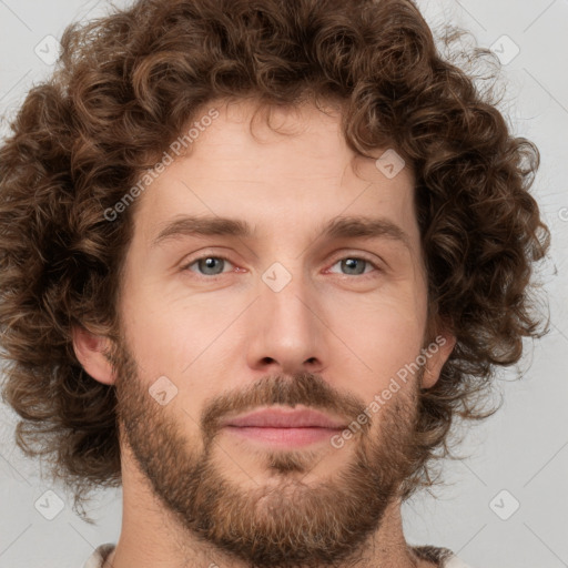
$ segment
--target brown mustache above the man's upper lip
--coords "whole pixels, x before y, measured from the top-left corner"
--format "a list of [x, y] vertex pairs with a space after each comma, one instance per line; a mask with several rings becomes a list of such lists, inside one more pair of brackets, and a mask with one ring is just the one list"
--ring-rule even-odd
[[[322, 412], [337, 414], [352, 422], [363, 414], [365, 404], [351, 393], [339, 392], [320, 375], [297, 373], [292, 376], [264, 377], [248, 387], [229, 390], [204, 402], [201, 427], [212, 438], [227, 415], [242, 414], [260, 406], [304, 405]], [[362, 425], [368, 428], [369, 424]]]

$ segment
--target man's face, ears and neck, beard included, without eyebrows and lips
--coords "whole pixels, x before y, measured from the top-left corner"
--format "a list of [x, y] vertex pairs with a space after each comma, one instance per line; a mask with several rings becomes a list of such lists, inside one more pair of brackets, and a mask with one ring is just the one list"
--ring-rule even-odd
[[[123, 341], [74, 331], [81, 364], [114, 384], [119, 399], [123, 519], [106, 566], [329, 566], [317, 535], [328, 535], [334, 566], [434, 566], [406, 545], [398, 490], [418, 389], [438, 379], [455, 345], [449, 333], [341, 449], [326, 439], [283, 450], [220, 426], [245, 409], [293, 404], [351, 422], [416, 361], [427, 341], [427, 286], [412, 171], [388, 179], [374, 160], [354, 160], [338, 113], [312, 104], [273, 109], [272, 124], [288, 135], [262, 120], [251, 133], [250, 101], [211, 106], [219, 118], [138, 197], [119, 305]], [[256, 233], [152, 246], [181, 214], [239, 219]], [[385, 236], [318, 239], [317, 227], [345, 215], [387, 217], [409, 248]], [[219, 260], [207, 267], [201, 257]], [[346, 258], [362, 260], [354, 270]], [[292, 276], [278, 292], [262, 278], [275, 262]], [[166, 405], [149, 394], [162, 376], [178, 389]], [[276, 385], [292, 404], [275, 404]], [[205, 489], [212, 494], [197, 506]], [[197, 528], [203, 510], [209, 531]], [[231, 529], [244, 542], [257, 538], [263, 552], [239, 539], [222, 546]]]

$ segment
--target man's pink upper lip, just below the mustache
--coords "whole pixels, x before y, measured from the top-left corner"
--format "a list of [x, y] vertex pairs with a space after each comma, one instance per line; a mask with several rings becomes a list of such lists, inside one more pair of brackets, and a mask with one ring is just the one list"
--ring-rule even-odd
[[343, 429], [344, 420], [312, 408], [262, 408], [223, 422], [224, 427], [234, 428], [323, 428]]

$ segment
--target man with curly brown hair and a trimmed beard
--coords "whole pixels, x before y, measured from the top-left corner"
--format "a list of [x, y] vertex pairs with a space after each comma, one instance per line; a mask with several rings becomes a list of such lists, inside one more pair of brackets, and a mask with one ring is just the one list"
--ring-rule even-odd
[[407, 0], [145, 0], [62, 45], [0, 153], [0, 322], [22, 447], [122, 485], [85, 568], [464, 566], [400, 505], [537, 336], [536, 148]]

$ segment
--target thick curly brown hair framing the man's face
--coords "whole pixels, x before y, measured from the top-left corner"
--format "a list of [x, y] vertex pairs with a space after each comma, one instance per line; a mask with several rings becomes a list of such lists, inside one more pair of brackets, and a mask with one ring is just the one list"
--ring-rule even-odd
[[[458, 30], [445, 38], [448, 45]], [[453, 31], [452, 31], [453, 30]], [[548, 227], [530, 195], [539, 153], [491, 89], [444, 57], [410, 0], [139, 0], [72, 24], [0, 149], [0, 331], [17, 443], [79, 495], [121, 481], [115, 392], [90, 377], [72, 328], [119, 341], [136, 202], [104, 216], [213, 100], [342, 102], [356, 154], [393, 148], [415, 172], [432, 336], [456, 346], [420, 396], [423, 460], [404, 497], [453, 457], [455, 417], [480, 419], [498, 366], [540, 337], [534, 264]], [[475, 48], [474, 62], [498, 64]], [[491, 75], [493, 77], [493, 75]]]

